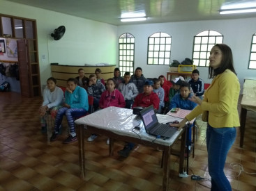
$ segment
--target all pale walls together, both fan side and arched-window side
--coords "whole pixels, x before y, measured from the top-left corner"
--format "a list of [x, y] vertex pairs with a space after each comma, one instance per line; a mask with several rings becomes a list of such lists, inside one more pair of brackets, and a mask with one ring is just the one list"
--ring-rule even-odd
[[[182, 61], [184, 58], [192, 58], [193, 37], [205, 30], [223, 34], [223, 42], [232, 48], [234, 67], [241, 84], [243, 78], [256, 76], [255, 69], [248, 69], [250, 43], [252, 35], [256, 33], [256, 18], [112, 26], [3, 0], [0, 0], [0, 5], [2, 14], [36, 19], [42, 85], [50, 76], [50, 63], [117, 64], [118, 38], [123, 33], [132, 33], [135, 36], [135, 67], [142, 67], [146, 77], [166, 74], [169, 69], [169, 66], [146, 65], [147, 38], [151, 34], [156, 32], [170, 34], [171, 60]], [[52, 40], [50, 33], [61, 25], [66, 26], [65, 35], [59, 41]], [[43, 56], [45, 60], [42, 59]], [[197, 67], [197, 69], [201, 72], [204, 81], [210, 83], [211, 80], [207, 79], [208, 68]]]

